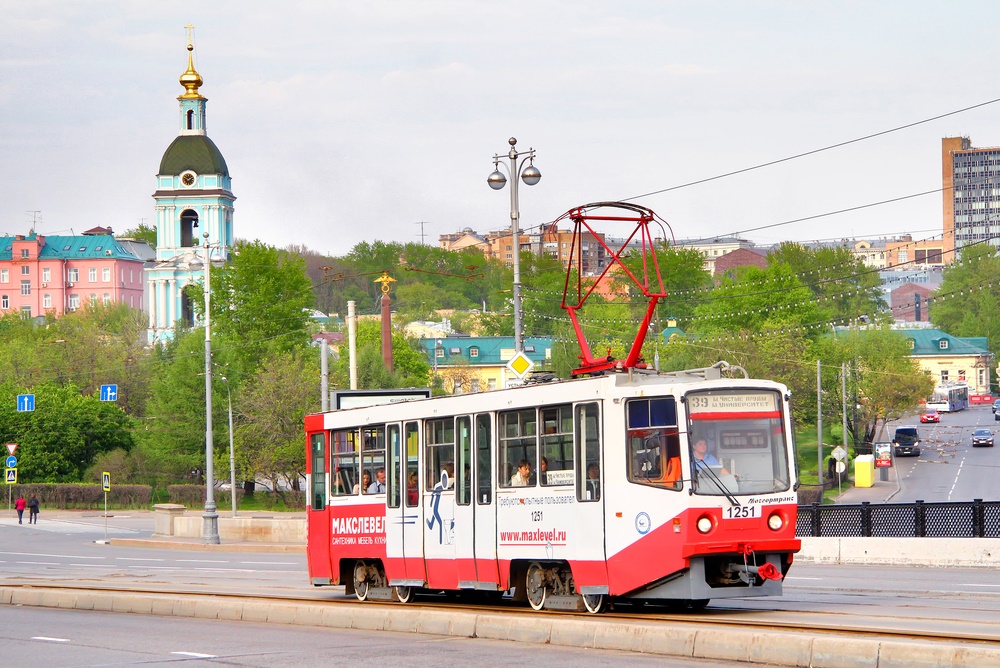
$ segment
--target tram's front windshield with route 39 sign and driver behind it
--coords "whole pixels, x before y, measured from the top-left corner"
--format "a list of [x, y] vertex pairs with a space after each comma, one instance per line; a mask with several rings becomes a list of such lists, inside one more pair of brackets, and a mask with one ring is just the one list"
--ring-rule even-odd
[[791, 487], [781, 394], [690, 392], [688, 455], [695, 494], [767, 494]]

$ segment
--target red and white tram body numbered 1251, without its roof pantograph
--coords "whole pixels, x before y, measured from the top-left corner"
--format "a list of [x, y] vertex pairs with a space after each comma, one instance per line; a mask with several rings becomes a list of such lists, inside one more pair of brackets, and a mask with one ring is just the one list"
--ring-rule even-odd
[[307, 416], [312, 583], [592, 612], [780, 594], [799, 549], [788, 391], [726, 368]]

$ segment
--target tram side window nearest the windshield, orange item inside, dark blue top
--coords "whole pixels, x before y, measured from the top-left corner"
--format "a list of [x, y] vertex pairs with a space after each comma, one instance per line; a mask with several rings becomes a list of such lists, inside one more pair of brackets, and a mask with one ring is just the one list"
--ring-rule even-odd
[[625, 410], [629, 481], [680, 490], [684, 475], [674, 398], [633, 399]]

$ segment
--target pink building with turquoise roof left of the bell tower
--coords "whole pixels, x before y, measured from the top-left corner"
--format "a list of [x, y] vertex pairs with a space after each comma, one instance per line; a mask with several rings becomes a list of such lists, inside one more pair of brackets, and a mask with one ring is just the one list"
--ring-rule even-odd
[[137, 252], [135, 242], [108, 234], [0, 237], [0, 315], [58, 316], [119, 302], [142, 309], [145, 274]]

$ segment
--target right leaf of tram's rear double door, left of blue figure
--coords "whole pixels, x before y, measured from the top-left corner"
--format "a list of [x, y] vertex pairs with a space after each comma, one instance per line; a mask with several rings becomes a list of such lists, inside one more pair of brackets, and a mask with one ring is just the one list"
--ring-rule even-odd
[[405, 582], [392, 584], [404, 584], [410, 587], [423, 586], [427, 581], [427, 572], [424, 568], [424, 510], [419, 486], [419, 454], [420, 423], [406, 422], [403, 424], [402, 454], [399, 461], [400, 485], [404, 491], [398, 518], [398, 534], [406, 564], [406, 577]]

